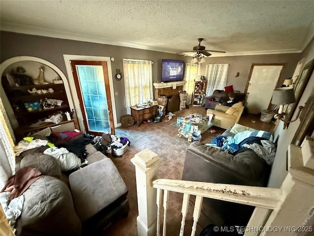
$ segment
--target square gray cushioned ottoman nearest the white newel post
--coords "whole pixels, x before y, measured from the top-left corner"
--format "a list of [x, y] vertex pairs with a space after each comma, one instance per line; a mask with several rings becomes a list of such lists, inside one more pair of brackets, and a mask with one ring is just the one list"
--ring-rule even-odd
[[[105, 224], [104, 222], [108, 221], [105, 215], [109, 218], [112, 218], [115, 212], [119, 215], [121, 213], [127, 215], [129, 211], [129, 203], [126, 199], [128, 189], [110, 158], [93, 162], [73, 172], [69, 176], [69, 183], [83, 230], [86, 228], [84, 225], [91, 227], [90, 223]], [[98, 222], [95, 219], [96, 216], [103, 218], [103, 223], [96, 223]], [[107, 222], [109, 223], [111, 222]], [[104, 225], [102, 227], [104, 228]]]

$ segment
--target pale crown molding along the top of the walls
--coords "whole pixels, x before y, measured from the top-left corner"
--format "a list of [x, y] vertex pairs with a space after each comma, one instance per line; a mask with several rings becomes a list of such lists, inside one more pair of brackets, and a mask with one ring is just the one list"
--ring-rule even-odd
[[[162, 48], [157, 48], [154, 46], [147, 46], [147, 45], [141, 45], [141, 44], [136, 44], [136, 43], [131, 43], [131, 42], [116, 41], [116, 40], [113, 41], [106, 38], [92, 37], [92, 36], [87, 36], [83, 34], [75, 34], [75, 33], [48, 30], [48, 29], [42, 29], [42, 28], [34, 28], [34, 27], [10, 24], [10, 23], [5, 23], [5, 22], [1, 22], [1, 30], [16, 32], [16, 33], [38, 35], [38, 36], [46, 36], [46, 37], [52, 37], [52, 38], [77, 40], [77, 41], [83, 41], [83, 42], [100, 43], [100, 44], [107, 44], [107, 45], [113, 45], [113, 46], [129, 47], [129, 48], [150, 50], [150, 51], [156, 51], [156, 52], [162, 52], [162, 53], [176, 54], [176, 51], [174, 50], [162, 49]], [[308, 43], [310, 43], [312, 38], [310, 37], [305, 38], [304, 44], [302, 46], [305, 48], [308, 45]], [[215, 58], [215, 57], [234, 57], [234, 56], [249, 56], [249, 55], [301, 53], [304, 50], [304, 48], [303, 49], [271, 50], [271, 51], [255, 51], [255, 52], [254, 51], [253, 52], [238, 52], [238, 53], [212, 53], [210, 57]], [[193, 57], [194, 54], [191, 53], [191, 54], [179, 54], [179, 55]]]

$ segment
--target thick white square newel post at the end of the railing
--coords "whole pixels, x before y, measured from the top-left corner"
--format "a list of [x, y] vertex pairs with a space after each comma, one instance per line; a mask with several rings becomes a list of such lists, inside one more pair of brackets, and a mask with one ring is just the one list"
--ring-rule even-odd
[[157, 189], [152, 181], [157, 178], [157, 171], [161, 158], [146, 148], [134, 155], [131, 162], [135, 166], [137, 189], [137, 233], [138, 236], [156, 235], [157, 227]]

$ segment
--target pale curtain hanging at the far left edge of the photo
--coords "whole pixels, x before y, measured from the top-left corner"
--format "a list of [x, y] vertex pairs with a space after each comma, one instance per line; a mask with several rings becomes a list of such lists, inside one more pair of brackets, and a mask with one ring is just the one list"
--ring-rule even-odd
[[14, 143], [10, 131], [13, 132], [0, 98], [0, 189], [9, 177], [15, 175]]

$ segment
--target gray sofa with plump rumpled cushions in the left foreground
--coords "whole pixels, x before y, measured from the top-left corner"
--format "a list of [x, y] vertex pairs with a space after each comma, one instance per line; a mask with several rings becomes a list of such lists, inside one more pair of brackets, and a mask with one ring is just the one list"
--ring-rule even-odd
[[61, 172], [59, 162], [43, 153], [47, 147], [22, 153], [20, 170], [36, 168], [43, 176], [23, 193], [17, 236], [94, 235], [128, 214], [128, 189], [113, 162], [93, 145], [85, 148], [88, 165], [72, 173]]

